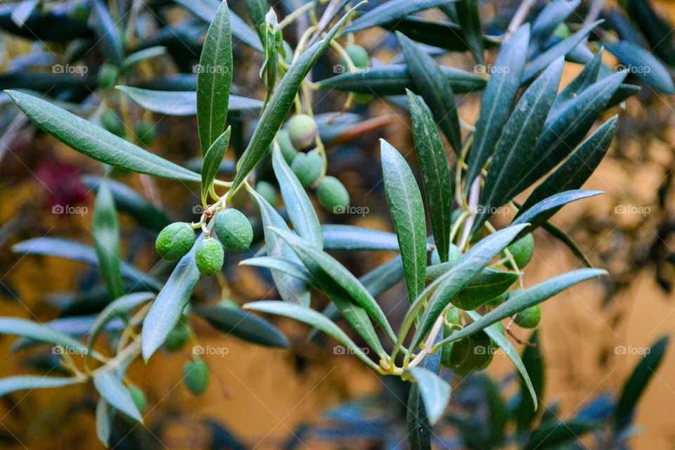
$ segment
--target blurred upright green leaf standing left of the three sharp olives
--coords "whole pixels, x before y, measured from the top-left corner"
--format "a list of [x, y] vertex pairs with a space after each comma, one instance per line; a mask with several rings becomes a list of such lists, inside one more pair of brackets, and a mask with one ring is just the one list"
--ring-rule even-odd
[[120, 265], [120, 228], [117, 225], [115, 200], [105, 182], [98, 188], [91, 231], [94, 234], [98, 266], [101, 268], [108, 294], [111, 299], [122, 297], [124, 288]]

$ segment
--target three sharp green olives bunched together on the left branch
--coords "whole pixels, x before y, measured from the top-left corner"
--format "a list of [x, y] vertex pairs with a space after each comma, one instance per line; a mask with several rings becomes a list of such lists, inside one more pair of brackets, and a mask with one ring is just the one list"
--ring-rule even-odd
[[[202, 275], [214, 275], [223, 266], [225, 247], [231, 252], [243, 252], [253, 240], [253, 229], [244, 214], [233, 208], [222, 210], [214, 217], [213, 233], [195, 249], [195, 264]], [[179, 259], [187, 255], [195, 243], [195, 231], [185, 222], [174, 222], [160, 231], [155, 248], [164, 259]]]

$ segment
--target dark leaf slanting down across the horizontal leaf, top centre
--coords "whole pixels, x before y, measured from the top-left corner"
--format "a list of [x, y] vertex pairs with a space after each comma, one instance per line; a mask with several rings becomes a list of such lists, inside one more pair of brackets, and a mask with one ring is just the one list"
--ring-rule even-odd
[[455, 105], [455, 94], [450, 82], [431, 56], [419, 51], [416, 45], [404, 34], [397, 32], [399, 44], [406, 56], [414, 90], [424, 98], [439, 127], [448, 138], [450, 145], [459, 154], [461, 151], [461, 131]]

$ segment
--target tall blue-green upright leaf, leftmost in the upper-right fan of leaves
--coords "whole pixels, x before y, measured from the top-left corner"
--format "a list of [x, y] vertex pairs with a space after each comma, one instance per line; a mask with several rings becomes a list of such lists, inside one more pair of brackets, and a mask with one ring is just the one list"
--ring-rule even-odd
[[494, 151], [494, 146], [501, 136], [501, 129], [506, 124], [511, 105], [518, 95], [528, 42], [529, 24], [525, 24], [506, 41], [506, 44], [503, 44], [492, 66], [467, 162], [465, 184], [467, 189]]

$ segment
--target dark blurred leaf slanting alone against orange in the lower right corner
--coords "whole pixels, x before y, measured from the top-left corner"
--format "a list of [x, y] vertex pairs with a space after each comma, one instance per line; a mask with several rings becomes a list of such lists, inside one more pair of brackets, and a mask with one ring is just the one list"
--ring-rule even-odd
[[614, 413], [615, 430], [621, 430], [630, 424], [638, 400], [659, 368], [669, 340], [669, 335], [665, 335], [654, 342], [649, 349], [649, 353], [645, 354], [626, 381]]

